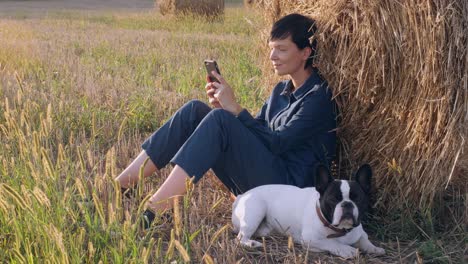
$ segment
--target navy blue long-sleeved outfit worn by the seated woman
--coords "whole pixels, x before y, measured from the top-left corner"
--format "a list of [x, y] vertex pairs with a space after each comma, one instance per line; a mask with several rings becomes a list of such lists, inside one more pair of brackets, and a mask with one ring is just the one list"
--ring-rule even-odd
[[195, 182], [211, 168], [235, 195], [265, 184], [314, 186], [315, 166], [335, 156], [335, 103], [315, 69], [292, 88], [278, 83], [256, 118], [190, 101], [142, 148], [157, 168], [177, 164]]

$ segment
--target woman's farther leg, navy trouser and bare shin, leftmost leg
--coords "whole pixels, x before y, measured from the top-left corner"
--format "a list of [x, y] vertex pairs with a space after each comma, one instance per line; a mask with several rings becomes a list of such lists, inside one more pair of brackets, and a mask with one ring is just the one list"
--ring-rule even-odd
[[143, 151], [116, 178], [123, 188], [138, 182], [140, 167], [149, 157], [143, 176], [147, 177], [163, 168], [187, 141], [201, 120], [211, 111], [205, 103], [192, 100], [182, 106], [160, 129], [142, 144]]

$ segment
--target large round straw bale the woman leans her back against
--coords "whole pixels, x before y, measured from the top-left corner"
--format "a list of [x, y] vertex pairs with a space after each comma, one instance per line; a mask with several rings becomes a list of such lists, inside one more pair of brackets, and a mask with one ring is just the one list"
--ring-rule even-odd
[[340, 168], [370, 162], [380, 208], [427, 212], [454, 185], [466, 203], [468, 2], [264, 1], [269, 22], [317, 21], [317, 65], [342, 113]]

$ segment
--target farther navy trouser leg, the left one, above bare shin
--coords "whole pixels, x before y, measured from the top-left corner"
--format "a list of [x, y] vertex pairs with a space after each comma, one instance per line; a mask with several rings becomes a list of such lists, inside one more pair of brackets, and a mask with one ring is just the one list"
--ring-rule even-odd
[[158, 169], [169, 163], [210, 111], [205, 103], [192, 100], [143, 142], [141, 147]]

